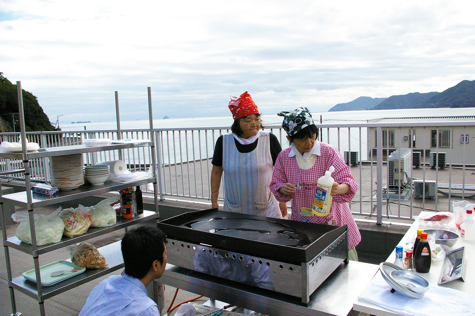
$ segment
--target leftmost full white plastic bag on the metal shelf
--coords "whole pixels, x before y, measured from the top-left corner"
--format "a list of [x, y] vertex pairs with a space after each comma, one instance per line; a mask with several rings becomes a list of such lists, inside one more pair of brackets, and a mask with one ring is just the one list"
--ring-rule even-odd
[[[35, 220], [36, 242], [38, 246], [61, 241], [61, 237], [63, 237], [64, 223], [61, 217], [58, 216], [59, 212], [61, 212], [61, 207], [49, 215], [33, 215]], [[19, 222], [15, 233], [17, 238], [22, 242], [32, 243], [28, 212], [14, 213], [11, 215], [11, 218], [15, 222]]]

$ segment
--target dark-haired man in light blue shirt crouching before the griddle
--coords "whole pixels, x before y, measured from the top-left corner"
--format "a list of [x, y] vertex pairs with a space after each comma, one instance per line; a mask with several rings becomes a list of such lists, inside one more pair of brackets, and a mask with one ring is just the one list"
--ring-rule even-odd
[[163, 274], [167, 264], [165, 234], [153, 226], [125, 233], [121, 242], [125, 274], [113, 275], [89, 294], [79, 316], [159, 316], [146, 287]]

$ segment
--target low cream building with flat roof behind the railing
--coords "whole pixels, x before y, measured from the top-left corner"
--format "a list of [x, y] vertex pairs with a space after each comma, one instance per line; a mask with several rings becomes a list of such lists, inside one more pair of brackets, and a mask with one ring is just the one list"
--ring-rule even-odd
[[[474, 121], [469, 126], [431, 126], [431, 122]], [[409, 118], [383, 118], [368, 120], [369, 123], [388, 123], [392, 127], [382, 127], [383, 160], [387, 154], [398, 148], [412, 148], [421, 152], [421, 161], [426, 158], [429, 163], [430, 152], [446, 152], [446, 164], [475, 164], [475, 116], [451, 117], [409, 117]], [[394, 124], [401, 126], [394, 127]], [[414, 126], [410, 124], [415, 123]], [[438, 133], [437, 133], [438, 130]], [[438, 141], [437, 141], [438, 134]], [[437, 149], [438, 147], [438, 149]], [[368, 128], [368, 154], [369, 159], [376, 161], [376, 127]]]

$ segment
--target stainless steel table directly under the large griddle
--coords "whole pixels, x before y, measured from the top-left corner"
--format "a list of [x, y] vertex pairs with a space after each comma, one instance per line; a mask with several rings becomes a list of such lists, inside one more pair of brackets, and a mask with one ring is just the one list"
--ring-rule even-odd
[[374, 264], [356, 261], [340, 265], [310, 296], [308, 306], [301, 302], [300, 297], [256, 288], [171, 264], [167, 264], [160, 282], [270, 316], [347, 316], [352, 314], [353, 302], [378, 268]]

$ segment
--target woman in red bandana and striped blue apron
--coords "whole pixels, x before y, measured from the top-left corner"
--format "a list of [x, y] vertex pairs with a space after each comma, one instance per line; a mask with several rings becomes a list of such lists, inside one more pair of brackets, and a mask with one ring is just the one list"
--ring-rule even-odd
[[211, 170], [211, 203], [218, 207], [219, 186], [224, 172], [224, 210], [242, 214], [283, 218], [285, 203], [279, 203], [269, 184], [278, 154], [282, 151], [274, 134], [262, 128], [257, 105], [247, 91], [231, 97], [231, 132], [216, 141]]

